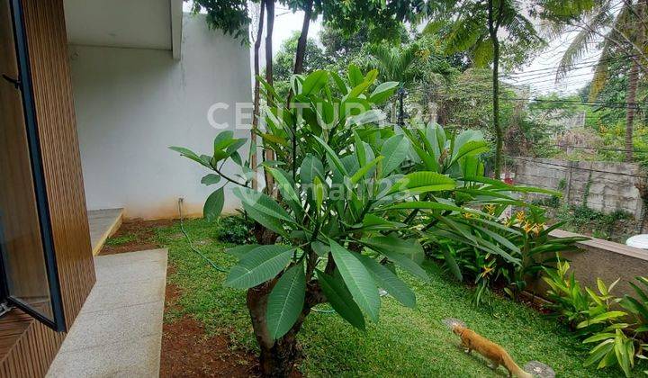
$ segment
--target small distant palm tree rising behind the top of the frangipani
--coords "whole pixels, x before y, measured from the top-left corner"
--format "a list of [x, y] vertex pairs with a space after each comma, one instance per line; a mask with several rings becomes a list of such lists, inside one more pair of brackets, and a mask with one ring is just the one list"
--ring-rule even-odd
[[415, 69], [419, 58], [425, 58], [426, 51], [412, 43], [408, 46], [390, 46], [385, 44], [370, 45], [367, 48], [365, 66], [378, 70], [382, 82], [395, 81], [399, 83], [399, 125], [404, 125], [403, 100], [407, 94], [405, 88], [410, 86], [420, 76], [421, 71]]

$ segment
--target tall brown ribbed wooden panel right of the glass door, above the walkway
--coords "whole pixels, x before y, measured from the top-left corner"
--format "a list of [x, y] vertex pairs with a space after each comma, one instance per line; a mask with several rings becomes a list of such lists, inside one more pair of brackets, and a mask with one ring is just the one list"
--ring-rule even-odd
[[63, 0], [23, 0], [31, 80], [67, 328], [94, 285], [94, 264]]

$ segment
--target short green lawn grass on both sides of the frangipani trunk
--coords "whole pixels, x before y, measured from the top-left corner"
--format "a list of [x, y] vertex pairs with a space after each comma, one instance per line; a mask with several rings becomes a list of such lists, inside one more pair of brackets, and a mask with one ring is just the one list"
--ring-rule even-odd
[[[185, 229], [194, 246], [220, 266], [232, 266], [233, 257], [223, 253], [229, 247], [218, 241], [219, 227], [203, 220], [187, 220]], [[181, 288], [179, 309], [165, 314], [173, 321], [190, 314], [205, 326], [208, 334], [227, 333], [234, 347], [256, 350], [245, 293], [222, 286], [225, 278], [189, 247], [178, 225], [157, 229], [157, 242], [169, 248], [174, 273], [168, 280]], [[300, 334], [304, 360], [302, 372], [309, 376], [506, 376], [500, 368], [493, 373], [485, 361], [465, 355], [458, 339], [441, 323], [459, 318], [487, 338], [506, 347], [518, 365], [539, 360], [554, 367], [558, 376], [620, 376], [616, 368], [605, 371], [585, 368], [587, 347], [577, 338], [538, 312], [500, 297], [491, 307], [475, 309], [471, 293], [454, 283], [437, 266], [426, 266], [431, 282], [410, 279], [417, 294], [415, 309], [383, 298], [380, 322], [369, 323], [365, 332], [354, 329], [336, 314], [311, 314]], [[639, 369], [635, 371], [640, 372]]]

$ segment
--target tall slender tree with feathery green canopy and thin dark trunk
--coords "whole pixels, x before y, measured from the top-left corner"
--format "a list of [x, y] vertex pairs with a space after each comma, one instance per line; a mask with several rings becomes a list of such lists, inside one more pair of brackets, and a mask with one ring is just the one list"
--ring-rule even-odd
[[[500, 125], [500, 60], [510, 65], [522, 63], [544, 42], [527, 17], [522, 5], [515, 0], [463, 0], [434, 18], [428, 32], [442, 31], [446, 52], [468, 51], [476, 67], [492, 64], [492, 128], [496, 138], [495, 177], [500, 177], [503, 131]], [[500, 31], [506, 32], [500, 40]], [[502, 43], [509, 56], [502, 57]]]

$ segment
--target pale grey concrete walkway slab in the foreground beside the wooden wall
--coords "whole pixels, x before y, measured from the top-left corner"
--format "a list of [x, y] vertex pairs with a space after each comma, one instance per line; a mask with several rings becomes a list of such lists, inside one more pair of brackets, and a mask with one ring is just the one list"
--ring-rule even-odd
[[157, 377], [166, 249], [94, 257], [97, 281], [48, 377]]

